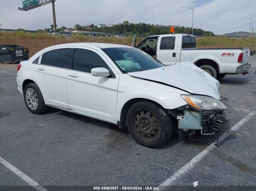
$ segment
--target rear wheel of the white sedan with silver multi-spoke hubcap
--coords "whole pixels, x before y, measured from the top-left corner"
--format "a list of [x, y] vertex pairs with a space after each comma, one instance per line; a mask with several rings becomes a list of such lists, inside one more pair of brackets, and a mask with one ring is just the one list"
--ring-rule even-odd
[[37, 84], [31, 83], [24, 88], [24, 100], [31, 113], [39, 114], [47, 110], [43, 95]]

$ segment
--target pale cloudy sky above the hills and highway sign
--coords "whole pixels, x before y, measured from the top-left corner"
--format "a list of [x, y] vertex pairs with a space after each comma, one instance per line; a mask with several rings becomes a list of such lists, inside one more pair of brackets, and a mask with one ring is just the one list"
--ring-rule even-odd
[[[4, 29], [37, 30], [53, 24], [52, 4], [20, 11], [22, 0], [0, 0], [0, 24]], [[88, 24], [130, 23], [179, 25], [224, 34], [256, 28], [255, 4], [251, 0], [56, 0], [57, 28]], [[251, 29], [252, 30], [252, 29]]]

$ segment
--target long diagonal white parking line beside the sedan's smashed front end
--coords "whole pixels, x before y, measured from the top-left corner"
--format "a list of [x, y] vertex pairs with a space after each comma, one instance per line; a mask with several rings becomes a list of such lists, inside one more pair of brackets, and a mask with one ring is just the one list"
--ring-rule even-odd
[[[249, 113], [246, 117], [244, 117], [244, 119], [242, 119], [237, 124], [235, 124], [233, 127], [231, 127], [231, 129], [229, 129], [229, 131], [238, 130], [241, 126], [244, 125], [244, 123], [249, 121], [253, 115], [255, 115], [255, 113]], [[228, 137], [228, 135], [230, 135], [230, 134], [223, 133], [219, 137], [219, 142], [222, 142], [225, 138]], [[191, 170], [195, 164], [197, 164], [199, 161], [201, 161], [201, 159], [203, 159], [214, 148], [216, 148], [216, 146], [214, 144], [208, 146], [206, 149], [204, 149], [202, 152], [200, 152], [198, 155], [196, 155], [194, 158], [192, 158], [191, 161], [189, 161], [187, 164], [185, 164], [185, 166], [183, 166], [181, 169], [179, 169], [177, 172], [175, 172], [170, 178], [165, 180], [159, 186], [173, 185], [173, 183], [175, 183], [176, 180], [181, 178], [185, 173], [188, 173], [188, 171]]]

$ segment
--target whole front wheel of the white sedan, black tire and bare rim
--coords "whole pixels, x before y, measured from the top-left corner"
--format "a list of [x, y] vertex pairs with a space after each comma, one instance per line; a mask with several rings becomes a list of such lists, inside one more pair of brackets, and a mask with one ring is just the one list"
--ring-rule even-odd
[[158, 147], [171, 136], [172, 122], [168, 113], [154, 103], [139, 101], [133, 104], [126, 121], [132, 138], [142, 146]]

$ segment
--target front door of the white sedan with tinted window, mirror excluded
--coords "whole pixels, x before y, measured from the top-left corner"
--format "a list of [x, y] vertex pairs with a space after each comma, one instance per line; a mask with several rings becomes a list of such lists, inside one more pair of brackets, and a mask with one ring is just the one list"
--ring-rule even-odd
[[[111, 77], [91, 75], [92, 68], [107, 68]], [[72, 66], [66, 73], [70, 109], [115, 121], [118, 75], [108, 60], [97, 50], [75, 47]]]

